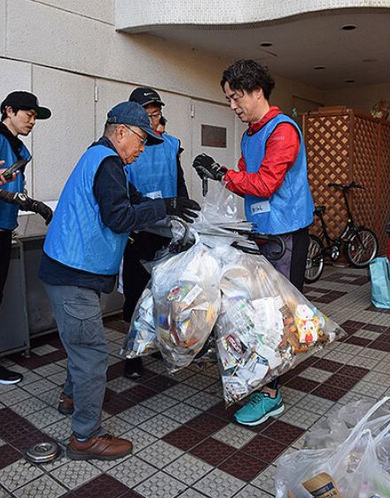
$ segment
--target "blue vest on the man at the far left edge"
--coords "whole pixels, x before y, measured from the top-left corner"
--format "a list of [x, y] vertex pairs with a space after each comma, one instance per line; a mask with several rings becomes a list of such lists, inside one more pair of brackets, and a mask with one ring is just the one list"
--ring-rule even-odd
[[[22, 159], [31, 159], [31, 154], [28, 152], [26, 146], [21, 147], [20, 156]], [[18, 161], [18, 157], [13, 152], [10, 142], [2, 134], [0, 134], [0, 159], [5, 161], [4, 166], [1, 166], [1, 168], [9, 168], [14, 162]], [[8, 192], [23, 192], [23, 175], [20, 173], [16, 180], [5, 184], [1, 188], [8, 190]], [[16, 228], [18, 226], [18, 211], [18, 204], [0, 201], [0, 228], [4, 230], [13, 230]]]

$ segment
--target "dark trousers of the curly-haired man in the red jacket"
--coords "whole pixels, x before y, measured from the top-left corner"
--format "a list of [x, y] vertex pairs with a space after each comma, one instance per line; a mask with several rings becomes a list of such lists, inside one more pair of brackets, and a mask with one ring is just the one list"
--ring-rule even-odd
[[[296, 232], [281, 235], [285, 241], [285, 255], [275, 261], [270, 260], [270, 251], [277, 252], [277, 244], [269, 242], [260, 247], [261, 253], [269, 259], [278, 272], [285, 275], [300, 292], [303, 290], [306, 260], [308, 258], [308, 228], [300, 228]], [[271, 389], [277, 389], [279, 377], [267, 384]]]

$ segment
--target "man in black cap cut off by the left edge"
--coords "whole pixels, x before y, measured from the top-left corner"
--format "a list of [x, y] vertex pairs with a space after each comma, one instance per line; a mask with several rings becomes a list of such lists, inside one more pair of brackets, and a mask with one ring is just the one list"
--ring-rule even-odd
[[[31, 154], [19, 136], [27, 137], [35, 126], [35, 120], [49, 118], [51, 111], [47, 107], [40, 107], [35, 95], [28, 91], [12, 91], [2, 102], [0, 110], [0, 157], [4, 159], [7, 169], [20, 159], [31, 159]], [[24, 194], [23, 172], [21, 170], [19, 174], [14, 174], [6, 185], [0, 182], [0, 304], [10, 265], [12, 230], [18, 225], [19, 209], [40, 214], [46, 223], [50, 223], [52, 216], [51, 209], [43, 202]], [[0, 366], [0, 383], [19, 383], [22, 378], [19, 373]]]

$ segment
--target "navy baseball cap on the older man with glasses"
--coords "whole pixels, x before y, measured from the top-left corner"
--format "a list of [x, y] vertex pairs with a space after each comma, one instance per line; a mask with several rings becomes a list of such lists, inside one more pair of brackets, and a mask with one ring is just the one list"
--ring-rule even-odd
[[144, 107], [136, 102], [121, 102], [113, 107], [107, 114], [107, 123], [110, 124], [127, 124], [129, 126], [137, 126], [147, 133], [147, 146], [153, 146], [163, 142], [157, 133], [155, 133], [150, 125], [149, 116], [146, 114]]

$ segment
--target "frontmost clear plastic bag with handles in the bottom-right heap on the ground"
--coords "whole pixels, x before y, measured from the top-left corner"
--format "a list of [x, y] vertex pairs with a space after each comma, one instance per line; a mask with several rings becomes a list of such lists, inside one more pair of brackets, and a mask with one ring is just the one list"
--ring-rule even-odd
[[[390, 416], [371, 417], [389, 398], [378, 401], [355, 425], [338, 447], [302, 449], [283, 455], [277, 462], [276, 498], [290, 491], [295, 498], [311, 498], [301, 485], [320, 472], [327, 472], [336, 482], [342, 498], [390, 498], [390, 475], [382, 469], [377, 455], [378, 442], [390, 430]], [[383, 429], [376, 437], [378, 427]]]

